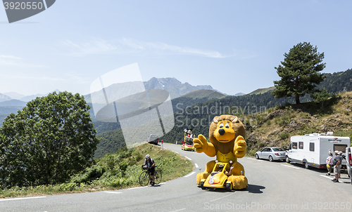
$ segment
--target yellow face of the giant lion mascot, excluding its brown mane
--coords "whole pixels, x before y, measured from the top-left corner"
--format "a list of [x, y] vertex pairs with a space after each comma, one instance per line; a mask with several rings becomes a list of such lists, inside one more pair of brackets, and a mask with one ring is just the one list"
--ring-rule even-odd
[[230, 120], [219, 121], [213, 135], [221, 143], [228, 143], [236, 137]]

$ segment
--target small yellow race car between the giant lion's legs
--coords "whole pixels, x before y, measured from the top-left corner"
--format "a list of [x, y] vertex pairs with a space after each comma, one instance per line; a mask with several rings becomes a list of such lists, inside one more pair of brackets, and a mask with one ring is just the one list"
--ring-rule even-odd
[[230, 171], [229, 163], [217, 162], [213, 168], [213, 172], [208, 175], [208, 178], [201, 180], [201, 189], [226, 188], [230, 192], [232, 190], [232, 182], [227, 180], [227, 171]]

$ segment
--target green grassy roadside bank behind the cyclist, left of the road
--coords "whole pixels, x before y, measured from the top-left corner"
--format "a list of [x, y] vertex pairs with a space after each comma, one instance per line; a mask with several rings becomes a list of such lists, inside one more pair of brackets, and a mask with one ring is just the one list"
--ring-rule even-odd
[[67, 194], [94, 192], [102, 190], [118, 190], [139, 186], [139, 175], [142, 173], [144, 156], [150, 154], [158, 170], [162, 171], [165, 182], [186, 175], [194, 168], [191, 161], [180, 157], [170, 150], [148, 143], [138, 147], [122, 148], [114, 154], [106, 154], [97, 159], [95, 164], [71, 178], [67, 183], [59, 185], [40, 185], [36, 187], [12, 187], [0, 190], [0, 198], [31, 197], [47, 194]]

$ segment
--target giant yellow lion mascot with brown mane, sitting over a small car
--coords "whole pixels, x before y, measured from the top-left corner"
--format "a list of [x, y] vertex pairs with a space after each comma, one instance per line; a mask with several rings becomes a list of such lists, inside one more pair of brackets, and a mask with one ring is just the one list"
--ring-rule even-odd
[[[244, 141], [246, 130], [241, 121], [235, 116], [221, 115], [214, 117], [209, 127], [210, 143], [203, 135], [194, 139], [196, 152], [204, 152], [209, 157], [216, 155], [216, 160], [223, 163], [230, 163], [231, 169], [229, 178], [233, 189], [241, 190], [248, 187], [248, 180], [244, 176], [244, 167], [237, 161], [237, 158], [246, 154], [246, 141]], [[206, 164], [206, 171], [197, 175], [196, 183], [201, 185], [201, 180], [208, 178], [213, 171], [215, 161]]]

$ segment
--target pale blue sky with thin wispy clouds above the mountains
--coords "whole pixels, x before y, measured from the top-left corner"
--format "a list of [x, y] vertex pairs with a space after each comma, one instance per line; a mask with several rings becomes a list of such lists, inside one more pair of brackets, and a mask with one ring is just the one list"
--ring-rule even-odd
[[[274, 86], [284, 53], [310, 42], [325, 73], [352, 68], [352, 1], [58, 0], [8, 23], [0, 8], [0, 93], [86, 95], [113, 69], [222, 93]], [[129, 76], [129, 73], [125, 73]], [[124, 77], [126, 77], [124, 76]]]

